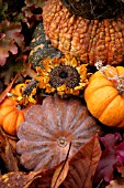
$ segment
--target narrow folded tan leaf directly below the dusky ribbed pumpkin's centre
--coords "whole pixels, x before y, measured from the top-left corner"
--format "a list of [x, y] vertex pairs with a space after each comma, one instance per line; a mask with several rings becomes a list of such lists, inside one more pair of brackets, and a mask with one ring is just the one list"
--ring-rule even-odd
[[68, 160], [63, 161], [55, 170], [53, 178], [52, 178], [52, 186], [50, 188], [58, 188], [59, 185], [65, 180], [69, 170]]

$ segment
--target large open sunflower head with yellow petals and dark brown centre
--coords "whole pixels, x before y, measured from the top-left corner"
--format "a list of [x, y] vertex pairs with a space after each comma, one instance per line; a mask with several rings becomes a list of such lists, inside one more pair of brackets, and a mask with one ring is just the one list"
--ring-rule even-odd
[[80, 64], [75, 58], [45, 59], [44, 69], [36, 66], [40, 88], [45, 93], [57, 92], [58, 95], [79, 95], [88, 84], [87, 64]]

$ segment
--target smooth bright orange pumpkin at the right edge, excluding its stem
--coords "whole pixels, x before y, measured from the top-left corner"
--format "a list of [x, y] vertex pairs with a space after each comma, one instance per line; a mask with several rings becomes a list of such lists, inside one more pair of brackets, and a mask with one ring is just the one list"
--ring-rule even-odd
[[[123, 66], [111, 66], [111, 69], [119, 76], [124, 75]], [[115, 88], [115, 83], [108, 80], [100, 71], [90, 77], [84, 91], [84, 100], [90, 113], [101, 123], [124, 127], [124, 94], [120, 94], [120, 91]]]

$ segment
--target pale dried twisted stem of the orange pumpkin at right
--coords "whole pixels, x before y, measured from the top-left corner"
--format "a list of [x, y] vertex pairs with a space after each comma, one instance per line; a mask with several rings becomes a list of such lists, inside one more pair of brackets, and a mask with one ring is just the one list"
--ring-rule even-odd
[[109, 81], [112, 81], [114, 87], [119, 91], [120, 94], [124, 92], [124, 75], [117, 75], [116, 70], [114, 66], [105, 65], [103, 66], [102, 61], [98, 61], [95, 63], [97, 69], [105, 75]]

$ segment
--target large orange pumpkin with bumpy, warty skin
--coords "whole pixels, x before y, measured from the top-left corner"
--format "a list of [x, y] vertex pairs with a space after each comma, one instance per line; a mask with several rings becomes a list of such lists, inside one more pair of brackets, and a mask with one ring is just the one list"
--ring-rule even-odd
[[84, 63], [124, 61], [124, 15], [89, 20], [71, 14], [59, 0], [48, 0], [43, 9], [44, 29], [52, 44]]

